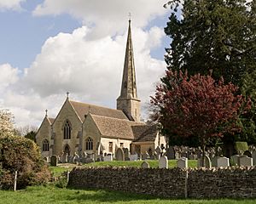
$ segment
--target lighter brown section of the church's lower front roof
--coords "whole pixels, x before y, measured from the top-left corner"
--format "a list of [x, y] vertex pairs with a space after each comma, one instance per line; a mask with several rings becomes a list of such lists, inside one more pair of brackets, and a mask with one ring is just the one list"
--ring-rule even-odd
[[106, 116], [91, 115], [91, 117], [102, 135], [109, 138], [133, 140], [134, 134], [131, 129], [131, 123], [134, 125], [137, 124], [138, 126], [145, 125], [142, 122], [130, 122], [128, 120], [121, 120]]

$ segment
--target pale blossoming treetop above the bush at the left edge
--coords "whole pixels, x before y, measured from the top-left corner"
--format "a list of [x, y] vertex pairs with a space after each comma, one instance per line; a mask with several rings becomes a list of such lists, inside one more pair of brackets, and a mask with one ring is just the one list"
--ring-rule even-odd
[[0, 110], [0, 136], [14, 133], [14, 116], [9, 110]]

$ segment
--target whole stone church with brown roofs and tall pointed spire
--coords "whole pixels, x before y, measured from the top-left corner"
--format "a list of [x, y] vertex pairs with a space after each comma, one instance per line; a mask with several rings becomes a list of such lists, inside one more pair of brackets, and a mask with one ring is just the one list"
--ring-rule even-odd
[[42, 156], [73, 156], [78, 153], [96, 156], [112, 154], [126, 148], [131, 154], [149, 155], [166, 146], [157, 125], [140, 121], [140, 99], [137, 98], [136, 73], [131, 40], [131, 20], [125, 49], [123, 80], [117, 110], [90, 105], [68, 98], [55, 118], [47, 111], [36, 135]]

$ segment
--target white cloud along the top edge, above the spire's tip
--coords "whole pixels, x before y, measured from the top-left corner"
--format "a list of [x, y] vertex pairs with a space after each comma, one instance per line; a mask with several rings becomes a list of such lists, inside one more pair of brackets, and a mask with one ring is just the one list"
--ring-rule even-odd
[[125, 31], [129, 13], [134, 26], [147, 26], [150, 20], [168, 12], [164, 3], [166, 0], [44, 0], [33, 14], [71, 14], [83, 20], [84, 25], [93, 26], [94, 32], [88, 37], [96, 38]]

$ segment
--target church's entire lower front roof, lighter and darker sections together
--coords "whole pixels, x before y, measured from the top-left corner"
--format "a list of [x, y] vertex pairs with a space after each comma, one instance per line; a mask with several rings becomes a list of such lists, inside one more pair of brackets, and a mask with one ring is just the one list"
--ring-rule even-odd
[[157, 134], [157, 126], [148, 126], [143, 122], [96, 115], [91, 117], [104, 137], [131, 139], [134, 142], [154, 142]]

